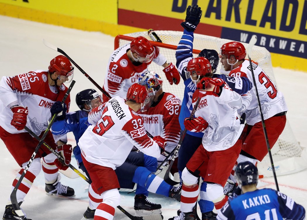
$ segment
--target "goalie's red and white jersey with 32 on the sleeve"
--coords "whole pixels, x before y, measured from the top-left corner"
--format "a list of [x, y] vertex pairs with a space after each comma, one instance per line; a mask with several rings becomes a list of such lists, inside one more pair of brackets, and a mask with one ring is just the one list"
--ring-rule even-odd
[[180, 138], [179, 113], [181, 100], [171, 93], [164, 93], [160, 102], [139, 115], [146, 130], [153, 136], [161, 136], [166, 142], [165, 151], [171, 152]]

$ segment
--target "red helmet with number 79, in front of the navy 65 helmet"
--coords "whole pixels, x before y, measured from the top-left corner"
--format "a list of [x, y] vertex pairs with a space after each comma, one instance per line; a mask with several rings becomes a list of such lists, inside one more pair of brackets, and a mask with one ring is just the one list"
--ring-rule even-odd
[[197, 57], [188, 62], [187, 71], [191, 76], [208, 76], [212, 77], [211, 64], [207, 58]]

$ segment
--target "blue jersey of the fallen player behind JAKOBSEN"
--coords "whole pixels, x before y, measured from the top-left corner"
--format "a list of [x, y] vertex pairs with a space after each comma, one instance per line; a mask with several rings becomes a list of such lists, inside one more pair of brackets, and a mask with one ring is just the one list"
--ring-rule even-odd
[[[90, 126], [90, 123], [87, 120], [88, 112], [87, 111], [76, 111], [66, 113], [65, 120], [53, 122], [51, 127], [51, 132], [54, 135], [67, 134], [72, 132], [75, 136], [77, 146], [74, 147], [73, 153], [77, 160], [78, 166], [82, 162], [81, 159], [81, 150], [78, 146], [79, 139], [81, 138], [84, 131]], [[79, 167], [80, 168], [80, 167]]]

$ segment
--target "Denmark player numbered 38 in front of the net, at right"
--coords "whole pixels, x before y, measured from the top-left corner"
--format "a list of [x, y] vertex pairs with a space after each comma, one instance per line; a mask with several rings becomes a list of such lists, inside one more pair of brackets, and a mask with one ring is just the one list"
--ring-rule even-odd
[[[223, 44], [220, 49], [221, 63], [225, 71], [230, 71], [229, 76], [247, 77], [251, 81], [252, 73], [248, 60], [245, 60], [246, 50], [240, 42], [228, 42]], [[268, 153], [266, 139], [264, 137], [260, 111], [258, 107], [256, 87], [260, 99], [264, 123], [266, 125], [266, 133], [270, 148], [277, 141], [279, 135], [286, 125], [286, 112], [288, 110], [285, 98], [270, 77], [260, 66], [254, 62], [251, 63], [256, 79], [256, 85], [249, 92], [251, 95], [242, 96], [243, 102], [249, 105], [243, 105], [239, 109], [239, 114], [246, 113], [246, 123], [242, 134], [242, 150], [238, 158], [239, 162], [250, 161], [256, 164], [262, 161]], [[233, 179], [233, 172], [231, 178]]]

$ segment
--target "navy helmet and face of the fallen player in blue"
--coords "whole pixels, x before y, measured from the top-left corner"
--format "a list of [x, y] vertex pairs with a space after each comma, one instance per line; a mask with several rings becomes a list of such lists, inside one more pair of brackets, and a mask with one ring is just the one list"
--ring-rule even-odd
[[[91, 111], [93, 108], [102, 104], [102, 97], [94, 89], [86, 89], [76, 95], [77, 106], [83, 111]], [[87, 105], [90, 109], [85, 109]]]

